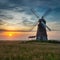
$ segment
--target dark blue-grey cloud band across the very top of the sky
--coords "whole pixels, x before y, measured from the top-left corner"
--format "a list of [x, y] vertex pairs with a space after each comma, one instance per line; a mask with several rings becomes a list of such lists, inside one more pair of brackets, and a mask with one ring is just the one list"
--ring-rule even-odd
[[[55, 8], [57, 6], [60, 7], [60, 2], [59, 0], [0, 0], [0, 5], [4, 6], [5, 8], [7, 7], [50, 7], [50, 8]], [[1, 8], [4, 8], [1, 7]]]

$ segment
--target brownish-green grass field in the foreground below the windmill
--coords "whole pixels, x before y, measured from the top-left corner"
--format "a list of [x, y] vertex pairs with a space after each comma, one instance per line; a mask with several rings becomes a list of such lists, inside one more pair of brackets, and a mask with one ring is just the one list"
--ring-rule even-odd
[[0, 41], [0, 60], [60, 60], [60, 44], [51, 41]]

